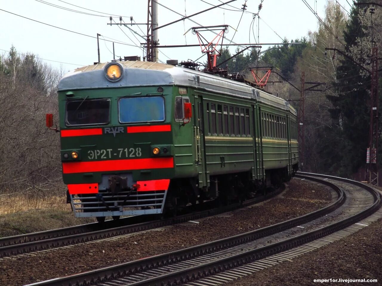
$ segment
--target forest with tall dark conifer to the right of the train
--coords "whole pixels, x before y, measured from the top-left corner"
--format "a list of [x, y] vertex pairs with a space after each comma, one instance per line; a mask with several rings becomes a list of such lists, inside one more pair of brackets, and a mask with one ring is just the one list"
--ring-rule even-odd
[[[354, 5], [349, 14], [337, 1], [328, 0], [325, 16], [317, 20], [317, 31], [309, 31], [300, 39], [284, 39], [285, 43], [300, 45], [275, 46], [264, 52], [253, 49], [228, 61], [229, 71], [244, 73], [249, 80], [253, 76], [248, 67], [272, 66], [264, 90], [290, 101], [296, 109], [302, 72], [304, 82], [323, 83], [314, 88], [320, 91], [305, 92], [304, 171], [365, 179], [371, 89], [368, 71], [372, 47], [380, 48], [382, 43], [382, 12], [374, 8]], [[226, 47], [220, 63], [229, 57]], [[309, 86], [312, 84], [304, 88]], [[378, 90], [380, 102], [381, 80]]]

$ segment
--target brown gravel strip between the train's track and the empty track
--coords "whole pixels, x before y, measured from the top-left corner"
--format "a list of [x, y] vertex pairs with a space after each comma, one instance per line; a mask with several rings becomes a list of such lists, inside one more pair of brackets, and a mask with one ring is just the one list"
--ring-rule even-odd
[[25, 285], [207, 243], [298, 217], [330, 202], [328, 187], [294, 178], [281, 196], [228, 213], [230, 217], [4, 259], [0, 261], [0, 285]]

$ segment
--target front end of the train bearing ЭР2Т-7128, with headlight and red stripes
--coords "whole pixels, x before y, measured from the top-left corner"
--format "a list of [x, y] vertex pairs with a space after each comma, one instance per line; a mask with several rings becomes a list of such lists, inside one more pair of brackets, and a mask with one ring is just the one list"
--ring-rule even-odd
[[176, 67], [110, 62], [60, 81], [62, 173], [76, 217], [163, 212], [175, 170], [173, 131], [181, 126], [192, 134], [189, 100], [174, 87], [170, 68]]

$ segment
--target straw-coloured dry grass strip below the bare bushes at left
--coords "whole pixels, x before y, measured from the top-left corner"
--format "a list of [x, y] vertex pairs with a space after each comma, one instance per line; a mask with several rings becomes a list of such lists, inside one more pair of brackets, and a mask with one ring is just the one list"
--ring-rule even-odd
[[0, 215], [36, 209], [70, 211], [65, 196], [39, 196], [36, 194], [0, 194]]

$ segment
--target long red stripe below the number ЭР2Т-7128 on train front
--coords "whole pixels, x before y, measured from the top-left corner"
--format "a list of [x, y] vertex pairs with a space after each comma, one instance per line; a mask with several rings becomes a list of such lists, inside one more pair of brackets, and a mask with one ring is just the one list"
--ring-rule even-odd
[[174, 158], [123, 159], [87, 162], [63, 162], [63, 174], [173, 168]]

